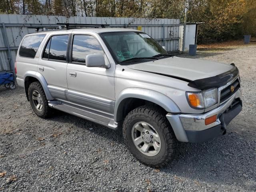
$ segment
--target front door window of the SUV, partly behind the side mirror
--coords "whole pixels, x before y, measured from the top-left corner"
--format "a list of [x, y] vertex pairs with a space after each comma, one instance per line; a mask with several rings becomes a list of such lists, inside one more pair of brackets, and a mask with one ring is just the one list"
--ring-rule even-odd
[[88, 54], [104, 54], [99, 42], [90, 35], [74, 35], [72, 45], [72, 62], [85, 63]]

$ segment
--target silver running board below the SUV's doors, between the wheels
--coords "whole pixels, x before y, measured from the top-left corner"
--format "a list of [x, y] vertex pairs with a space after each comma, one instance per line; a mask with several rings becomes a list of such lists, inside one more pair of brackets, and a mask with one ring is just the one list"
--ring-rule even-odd
[[62, 102], [59, 100], [54, 101], [48, 101], [48, 106], [75, 116], [78, 116], [80, 118], [107, 126], [108, 128], [111, 128], [113, 130], [117, 130], [118, 123], [114, 121], [114, 119], [110, 118], [108, 116], [104, 116], [104, 113], [96, 114], [92, 109], [90, 108], [78, 108], [76, 105], [70, 103], [70, 102]]

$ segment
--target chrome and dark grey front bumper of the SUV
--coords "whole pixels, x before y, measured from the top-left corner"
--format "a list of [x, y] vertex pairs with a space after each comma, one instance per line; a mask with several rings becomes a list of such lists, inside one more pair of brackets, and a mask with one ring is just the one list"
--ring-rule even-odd
[[[224, 104], [204, 114], [171, 114], [168, 118], [176, 138], [181, 142], [205, 142], [225, 133], [230, 121], [242, 110], [241, 89]], [[216, 115], [216, 122], [205, 125], [205, 119]]]

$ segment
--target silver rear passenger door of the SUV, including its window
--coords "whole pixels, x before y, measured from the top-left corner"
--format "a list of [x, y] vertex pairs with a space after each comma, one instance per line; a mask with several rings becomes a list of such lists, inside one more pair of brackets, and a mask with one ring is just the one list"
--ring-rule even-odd
[[38, 72], [44, 76], [52, 97], [56, 99], [67, 100], [66, 70], [69, 38], [70, 34], [50, 36], [38, 61]]

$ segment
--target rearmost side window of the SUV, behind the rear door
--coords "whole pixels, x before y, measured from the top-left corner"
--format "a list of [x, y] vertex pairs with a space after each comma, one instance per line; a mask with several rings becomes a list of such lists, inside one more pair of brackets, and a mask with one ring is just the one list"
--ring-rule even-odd
[[19, 55], [21, 57], [35, 58], [38, 47], [45, 35], [26, 36], [20, 46]]

